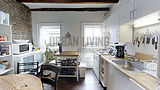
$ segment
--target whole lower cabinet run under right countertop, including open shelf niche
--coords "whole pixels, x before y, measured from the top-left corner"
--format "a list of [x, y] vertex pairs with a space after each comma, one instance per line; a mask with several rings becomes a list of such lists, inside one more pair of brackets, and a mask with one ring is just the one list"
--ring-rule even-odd
[[100, 82], [107, 90], [146, 90], [103, 58], [100, 58]]

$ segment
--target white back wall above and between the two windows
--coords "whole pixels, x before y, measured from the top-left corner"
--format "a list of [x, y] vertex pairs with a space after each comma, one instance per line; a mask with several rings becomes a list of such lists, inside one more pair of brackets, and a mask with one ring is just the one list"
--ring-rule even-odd
[[[33, 41], [38, 45], [37, 24], [62, 23], [62, 37], [70, 32], [74, 37], [81, 36], [81, 23], [102, 23], [106, 12], [32, 12]], [[77, 47], [63, 47], [65, 50], [77, 50]]]

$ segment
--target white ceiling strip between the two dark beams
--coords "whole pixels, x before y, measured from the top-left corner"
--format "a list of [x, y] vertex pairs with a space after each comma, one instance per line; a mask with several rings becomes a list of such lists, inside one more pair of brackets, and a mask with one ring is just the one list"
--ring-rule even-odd
[[60, 3], [23, 3], [27, 5], [30, 9], [37, 8], [107, 8], [111, 7], [113, 4], [60, 4]]

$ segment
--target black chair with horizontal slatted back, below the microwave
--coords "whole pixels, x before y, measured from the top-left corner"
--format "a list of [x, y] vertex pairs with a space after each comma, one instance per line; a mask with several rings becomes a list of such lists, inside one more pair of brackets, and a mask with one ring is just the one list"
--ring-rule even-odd
[[28, 73], [38, 76], [38, 62], [17, 63], [17, 74]]

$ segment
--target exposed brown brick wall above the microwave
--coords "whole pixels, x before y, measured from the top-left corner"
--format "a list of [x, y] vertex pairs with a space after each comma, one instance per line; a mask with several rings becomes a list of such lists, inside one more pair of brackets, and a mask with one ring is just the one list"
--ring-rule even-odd
[[0, 0], [0, 10], [9, 13], [13, 39], [32, 40], [31, 11], [16, 0]]

